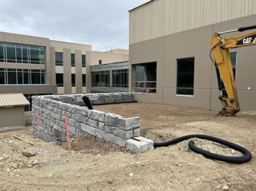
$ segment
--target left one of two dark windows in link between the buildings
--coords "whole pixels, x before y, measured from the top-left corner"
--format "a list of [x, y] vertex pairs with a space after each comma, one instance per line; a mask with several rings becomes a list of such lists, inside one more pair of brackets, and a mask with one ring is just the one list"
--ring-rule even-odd
[[110, 87], [110, 71], [92, 72], [92, 86]]

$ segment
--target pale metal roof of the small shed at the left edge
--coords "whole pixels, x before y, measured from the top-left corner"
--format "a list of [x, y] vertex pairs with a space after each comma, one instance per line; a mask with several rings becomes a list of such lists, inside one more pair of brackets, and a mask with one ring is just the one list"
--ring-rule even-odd
[[0, 94], [0, 108], [30, 105], [23, 93], [2, 93]]

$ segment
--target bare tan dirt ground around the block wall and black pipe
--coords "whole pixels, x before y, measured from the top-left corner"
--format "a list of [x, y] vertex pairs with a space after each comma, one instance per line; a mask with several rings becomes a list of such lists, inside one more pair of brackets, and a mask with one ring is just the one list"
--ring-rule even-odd
[[[4, 190], [256, 190], [256, 112], [215, 116], [205, 109], [154, 103], [94, 106], [94, 109], [140, 116], [143, 137], [172, 140], [206, 134], [239, 144], [252, 160], [230, 164], [193, 153], [188, 141], [135, 155], [92, 137], [72, 139], [72, 154], [55, 143], [32, 137], [31, 127], [0, 133], [0, 191]], [[29, 123], [29, 120], [27, 121]], [[12, 134], [33, 145], [17, 138]], [[194, 138], [204, 150], [226, 156], [238, 151]], [[75, 150], [75, 151], [74, 151]], [[26, 157], [25, 152], [34, 156]]]

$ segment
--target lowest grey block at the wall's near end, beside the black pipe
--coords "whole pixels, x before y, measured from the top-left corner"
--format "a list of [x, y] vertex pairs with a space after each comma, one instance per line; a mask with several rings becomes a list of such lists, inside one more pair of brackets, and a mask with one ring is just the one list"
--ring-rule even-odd
[[126, 140], [126, 148], [132, 153], [140, 154], [153, 150], [153, 141], [144, 137], [135, 137]]

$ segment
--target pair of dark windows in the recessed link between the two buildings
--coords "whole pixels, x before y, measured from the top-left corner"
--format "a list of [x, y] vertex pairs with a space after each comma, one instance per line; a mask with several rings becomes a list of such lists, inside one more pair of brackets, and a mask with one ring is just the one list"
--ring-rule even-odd
[[112, 84], [110, 85], [110, 71], [92, 72], [92, 86], [128, 88], [129, 70], [112, 70]]

